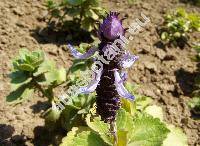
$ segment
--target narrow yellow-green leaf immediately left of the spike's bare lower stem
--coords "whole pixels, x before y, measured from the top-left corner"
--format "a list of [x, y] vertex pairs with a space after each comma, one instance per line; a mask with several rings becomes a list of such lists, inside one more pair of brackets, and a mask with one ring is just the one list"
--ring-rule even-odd
[[104, 142], [112, 146], [113, 138], [111, 137], [111, 135], [109, 135], [109, 125], [101, 121], [100, 117], [94, 118], [93, 121], [91, 121], [90, 118], [91, 115], [88, 114], [86, 118], [86, 123], [88, 127], [97, 132], [104, 140]]

